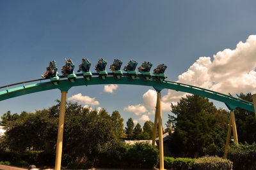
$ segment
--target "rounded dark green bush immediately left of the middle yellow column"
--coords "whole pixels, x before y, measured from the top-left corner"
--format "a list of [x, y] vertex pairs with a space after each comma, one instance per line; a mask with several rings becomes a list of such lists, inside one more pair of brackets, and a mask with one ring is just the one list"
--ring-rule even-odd
[[152, 168], [158, 162], [158, 150], [148, 143], [127, 145], [124, 163], [127, 167]]

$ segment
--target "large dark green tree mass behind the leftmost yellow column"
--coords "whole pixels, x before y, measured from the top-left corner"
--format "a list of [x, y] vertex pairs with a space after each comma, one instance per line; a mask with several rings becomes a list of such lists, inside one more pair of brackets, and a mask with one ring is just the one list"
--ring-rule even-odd
[[[27, 151], [43, 150], [44, 152], [33, 156], [38, 161], [36, 164], [54, 164], [59, 111], [60, 101], [57, 101], [51, 108], [35, 113], [5, 113], [0, 124], [4, 126], [6, 133], [4, 139], [0, 139], [0, 149], [16, 152], [13, 157], [10, 156], [13, 162], [26, 160], [29, 164], [35, 160], [29, 160], [28, 157], [23, 159], [20, 155]], [[97, 113], [77, 103], [67, 103], [63, 153], [68, 153], [77, 162], [97, 162], [100, 155], [108, 154], [118, 157], [118, 148], [122, 148], [119, 140], [123, 131], [122, 121], [118, 111], [110, 116], [104, 109]], [[71, 161], [70, 157], [65, 157], [65, 164]]]

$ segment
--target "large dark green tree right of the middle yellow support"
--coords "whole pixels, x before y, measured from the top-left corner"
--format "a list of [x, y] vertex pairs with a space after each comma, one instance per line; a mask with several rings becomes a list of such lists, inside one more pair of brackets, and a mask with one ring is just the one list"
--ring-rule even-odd
[[170, 136], [172, 153], [181, 157], [220, 154], [225, 145], [227, 111], [217, 110], [209, 99], [195, 95], [171, 107], [175, 115], [169, 115], [175, 131]]

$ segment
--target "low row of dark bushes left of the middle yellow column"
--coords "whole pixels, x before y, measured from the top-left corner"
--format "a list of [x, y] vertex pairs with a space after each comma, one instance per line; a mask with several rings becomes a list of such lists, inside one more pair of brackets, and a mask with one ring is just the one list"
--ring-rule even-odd
[[[61, 166], [69, 169], [86, 169], [91, 167], [138, 167], [152, 168], [157, 166], [158, 153], [156, 147], [148, 143], [136, 143], [134, 145], [124, 145], [118, 148], [120, 152], [102, 153], [97, 159], [77, 159], [68, 154], [62, 155]], [[24, 153], [15, 153], [9, 151], [0, 151], [0, 160], [8, 161], [12, 166], [27, 167], [29, 164], [36, 166], [54, 166], [55, 153], [46, 153], [42, 151], [29, 151]], [[79, 160], [79, 161], [77, 161]]]

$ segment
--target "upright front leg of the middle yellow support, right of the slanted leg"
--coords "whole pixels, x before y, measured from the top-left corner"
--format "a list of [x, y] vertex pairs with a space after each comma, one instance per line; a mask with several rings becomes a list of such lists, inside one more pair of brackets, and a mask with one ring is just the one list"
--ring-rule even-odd
[[157, 115], [158, 115], [158, 133], [159, 133], [159, 165], [160, 170], [164, 169], [164, 145], [163, 145], [163, 125], [162, 125], [162, 102], [161, 92], [157, 92]]

